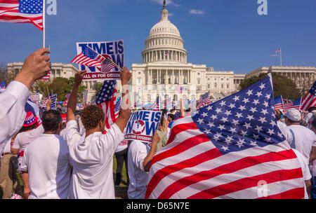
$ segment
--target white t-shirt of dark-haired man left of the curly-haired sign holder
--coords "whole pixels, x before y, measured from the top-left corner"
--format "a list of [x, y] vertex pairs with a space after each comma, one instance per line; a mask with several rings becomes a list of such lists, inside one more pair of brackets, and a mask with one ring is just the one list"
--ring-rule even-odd
[[71, 161], [67, 142], [60, 135], [43, 134], [27, 146], [21, 170], [29, 173], [29, 199], [67, 199]]

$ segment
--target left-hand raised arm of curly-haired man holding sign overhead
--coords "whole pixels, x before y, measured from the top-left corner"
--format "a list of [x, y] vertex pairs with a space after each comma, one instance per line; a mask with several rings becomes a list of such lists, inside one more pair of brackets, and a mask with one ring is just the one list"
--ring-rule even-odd
[[86, 70], [79, 71], [74, 75], [74, 87], [72, 88], [72, 94], [68, 100], [67, 104], [67, 122], [76, 120], [74, 116], [74, 112], [76, 111], [77, 106], [77, 98], [78, 98], [78, 88], [82, 79], [84, 78], [84, 74], [86, 74]]

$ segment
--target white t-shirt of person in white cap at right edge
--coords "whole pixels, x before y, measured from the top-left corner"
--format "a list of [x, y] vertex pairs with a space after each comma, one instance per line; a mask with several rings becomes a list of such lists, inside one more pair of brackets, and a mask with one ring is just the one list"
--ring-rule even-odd
[[299, 151], [306, 159], [310, 159], [312, 144], [315, 143], [315, 133], [302, 125], [289, 125], [289, 129], [294, 132], [294, 146], [292, 148]]

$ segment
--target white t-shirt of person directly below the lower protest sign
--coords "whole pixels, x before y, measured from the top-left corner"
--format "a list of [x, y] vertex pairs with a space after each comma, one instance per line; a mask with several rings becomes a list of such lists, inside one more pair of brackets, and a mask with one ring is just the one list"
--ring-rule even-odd
[[127, 165], [129, 169], [129, 199], [145, 199], [148, 172], [144, 170], [144, 159], [150, 151], [147, 143], [133, 141], [129, 144]]

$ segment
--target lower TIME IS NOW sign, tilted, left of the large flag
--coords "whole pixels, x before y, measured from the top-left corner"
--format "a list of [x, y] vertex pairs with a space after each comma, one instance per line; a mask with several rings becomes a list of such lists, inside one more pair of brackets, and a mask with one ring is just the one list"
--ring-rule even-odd
[[126, 125], [125, 139], [152, 143], [152, 136], [158, 129], [161, 111], [136, 111], [131, 114]]

